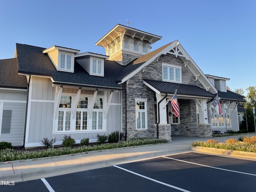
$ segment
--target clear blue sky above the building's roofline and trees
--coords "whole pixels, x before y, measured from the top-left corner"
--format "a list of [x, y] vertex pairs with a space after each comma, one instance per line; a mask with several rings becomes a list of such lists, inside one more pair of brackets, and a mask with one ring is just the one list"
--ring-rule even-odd
[[16, 43], [106, 54], [95, 43], [127, 19], [162, 36], [152, 50], [178, 40], [231, 90], [256, 86], [255, 0], [0, 0], [0, 59], [13, 58]]

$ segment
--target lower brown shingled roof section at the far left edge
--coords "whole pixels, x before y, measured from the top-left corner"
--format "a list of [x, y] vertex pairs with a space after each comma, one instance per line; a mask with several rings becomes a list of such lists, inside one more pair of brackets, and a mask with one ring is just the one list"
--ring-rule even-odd
[[27, 88], [26, 76], [18, 74], [17, 58], [0, 60], [0, 87]]

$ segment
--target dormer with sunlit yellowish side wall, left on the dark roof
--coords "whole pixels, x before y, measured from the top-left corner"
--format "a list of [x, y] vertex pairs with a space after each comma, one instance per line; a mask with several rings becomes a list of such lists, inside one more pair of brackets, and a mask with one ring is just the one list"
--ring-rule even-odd
[[55, 45], [43, 50], [43, 53], [48, 54], [49, 58], [58, 71], [72, 73], [74, 73], [74, 56], [79, 52], [80, 50]]

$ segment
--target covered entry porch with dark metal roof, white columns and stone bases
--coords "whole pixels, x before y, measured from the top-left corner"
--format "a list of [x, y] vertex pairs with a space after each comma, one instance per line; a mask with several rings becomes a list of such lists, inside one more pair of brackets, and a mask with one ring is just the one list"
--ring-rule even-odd
[[[172, 135], [211, 137], [207, 102], [214, 94], [187, 84], [144, 80], [144, 84], [156, 94], [156, 132], [158, 138], [172, 140]], [[177, 90], [179, 117], [170, 104]]]

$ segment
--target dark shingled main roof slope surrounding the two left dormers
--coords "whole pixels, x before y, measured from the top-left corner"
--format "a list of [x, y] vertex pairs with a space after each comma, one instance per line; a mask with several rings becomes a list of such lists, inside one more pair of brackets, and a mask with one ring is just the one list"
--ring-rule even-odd
[[69, 84], [76, 86], [121, 89], [116, 82], [117, 76], [122, 72], [123, 66], [114, 61], [104, 61], [104, 77], [88, 74], [80, 64], [75, 62], [74, 73], [57, 71], [47, 54], [45, 48], [16, 44], [18, 58], [18, 72], [23, 74], [44, 75], [52, 77], [54, 84]]

